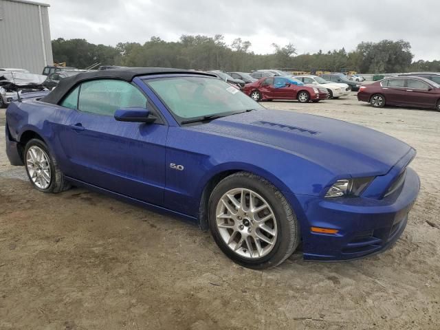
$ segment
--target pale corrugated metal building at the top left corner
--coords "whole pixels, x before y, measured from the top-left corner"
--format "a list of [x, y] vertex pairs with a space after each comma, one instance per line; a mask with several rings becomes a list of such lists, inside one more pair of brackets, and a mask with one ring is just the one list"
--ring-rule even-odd
[[41, 74], [53, 65], [49, 5], [34, 1], [0, 0], [0, 67]]

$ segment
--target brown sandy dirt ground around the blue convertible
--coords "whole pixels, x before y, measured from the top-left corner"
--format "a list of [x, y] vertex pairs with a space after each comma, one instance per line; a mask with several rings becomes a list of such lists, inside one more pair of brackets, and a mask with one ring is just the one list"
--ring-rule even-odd
[[263, 104], [417, 148], [421, 194], [391, 250], [344, 263], [296, 252], [248, 270], [194, 225], [83, 189], [32, 189], [1, 133], [0, 329], [440, 329], [440, 113], [373, 109], [355, 96]]

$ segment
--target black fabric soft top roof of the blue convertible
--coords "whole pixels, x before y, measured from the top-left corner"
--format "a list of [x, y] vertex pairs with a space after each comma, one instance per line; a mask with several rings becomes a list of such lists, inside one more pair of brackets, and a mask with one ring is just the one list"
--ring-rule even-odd
[[201, 76], [217, 77], [214, 74], [193, 70], [173, 69], [164, 67], [127, 67], [122, 69], [109, 69], [96, 72], [82, 72], [76, 76], [68, 77], [60, 81], [56, 89], [47, 94], [41, 101], [58, 104], [65, 94], [73, 87], [86, 80], [113, 78], [118, 80], [131, 81], [137, 76], [148, 76], [153, 74], [199, 74]]

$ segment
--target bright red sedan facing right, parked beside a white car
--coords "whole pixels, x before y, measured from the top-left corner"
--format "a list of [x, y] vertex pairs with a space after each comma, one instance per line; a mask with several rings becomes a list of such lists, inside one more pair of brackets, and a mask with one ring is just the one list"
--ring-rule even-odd
[[301, 103], [325, 100], [328, 91], [325, 88], [307, 86], [290, 77], [261, 78], [245, 85], [243, 93], [256, 101], [298, 100]]

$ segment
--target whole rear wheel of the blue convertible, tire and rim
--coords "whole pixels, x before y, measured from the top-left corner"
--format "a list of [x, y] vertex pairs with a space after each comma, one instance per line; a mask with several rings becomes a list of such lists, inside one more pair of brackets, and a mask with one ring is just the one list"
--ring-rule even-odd
[[50, 155], [49, 148], [43, 141], [30, 140], [25, 146], [23, 157], [26, 173], [28, 173], [29, 180], [36, 190], [58, 193], [71, 187], [58, 168], [56, 159]]

